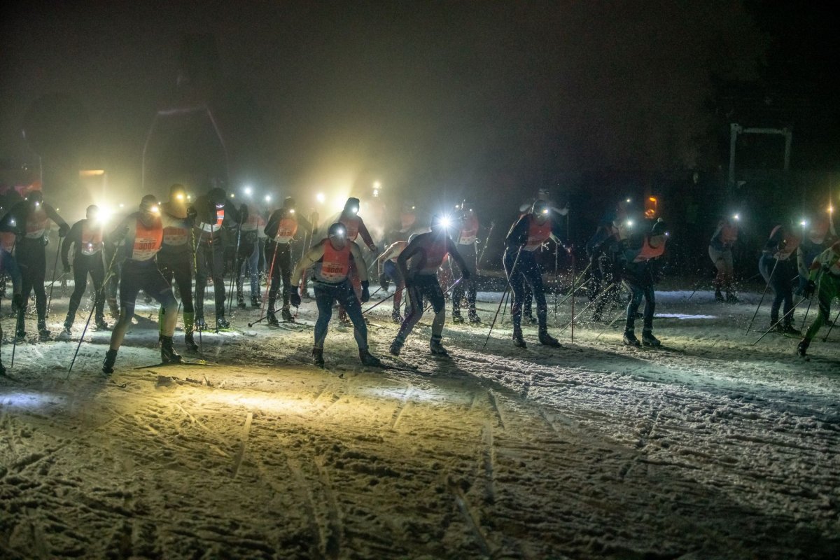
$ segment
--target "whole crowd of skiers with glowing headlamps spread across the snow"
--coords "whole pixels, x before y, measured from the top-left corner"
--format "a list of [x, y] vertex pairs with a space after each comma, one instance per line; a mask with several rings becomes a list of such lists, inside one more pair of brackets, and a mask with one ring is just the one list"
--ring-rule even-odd
[[[367, 322], [361, 310], [361, 304], [370, 300], [370, 272], [374, 267], [381, 289], [387, 291], [391, 283], [395, 285], [395, 292], [389, 296], [391, 317], [400, 327], [390, 352], [399, 355], [423, 315], [424, 301], [428, 301], [434, 313], [429, 348], [431, 353], [445, 356], [441, 338], [450, 291], [453, 322], [481, 323], [475, 307], [476, 280], [486, 242], [495, 227], [493, 222], [482, 224], [475, 207], [467, 201], [452, 216], [433, 216], [427, 227], [417, 220], [414, 204], [406, 201], [399, 221], [381, 235], [384, 245], [380, 250], [360, 216], [358, 198], [349, 198], [338, 216], [319, 227], [318, 215], [312, 214], [309, 219], [299, 215], [291, 197], [270, 210], [253, 201], [234, 203], [234, 198], [220, 187], [193, 200], [185, 187], [177, 184], [171, 186], [168, 200], [162, 203], [153, 195], [143, 196], [137, 212], [115, 227], [102, 218], [95, 205], [71, 227], [38, 190], [30, 191], [24, 199], [7, 200], [5, 210], [0, 218], [0, 272], [12, 280], [16, 339], [25, 337], [24, 317], [33, 290], [39, 336], [50, 336], [46, 327], [45, 246], [53, 222], [61, 241], [56, 261], [60, 255], [65, 273], [75, 280], [60, 338], [71, 335], [90, 275], [94, 324], [98, 329], [111, 328], [104, 317], [106, 301], [118, 317], [102, 364], [105, 373], [113, 372], [141, 290], [160, 303], [160, 356], [164, 363], [181, 361], [173, 346], [179, 313], [184, 345], [190, 352], [199, 348], [195, 332], [211, 328], [204, 306], [208, 285], [213, 285], [214, 292], [212, 328], [230, 327], [225, 314], [225, 276], [230, 267], [236, 305], [241, 308], [246, 306], [244, 279], [250, 284], [250, 305], [262, 305], [260, 273], [265, 275], [265, 321], [271, 327], [281, 321], [294, 321], [290, 307], [300, 306], [302, 297], [308, 297], [311, 282], [318, 307], [312, 345], [315, 364], [324, 364], [324, 341], [333, 305], [337, 304], [339, 321], [354, 328], [362, 363], [381, 365], [369, 351]], [[567, 213], [568, 208], [549, 199], [548, 191], [539, 191], [519, 208], [519, 217], [505, 237], [502, 265], [512, 294], [512, 341], [517, 347], [527, 346], [523, 320], [538, 325], [539, 343], [559, 346], [557, 338], [548, 332], [548, 304], [537, 253], [552, 239], [557, 248], [571, 252], [560, 242], [564, 237], [561, 218]], [[484, 243], [481, 233], [486, 235]], [[724, 217], [709, 243], [709, 256], [717, 269], [715, 297], [720, 302], [738, 301], [733, 290], [732, 257], [738, 234], [738, 217]], [[661, 275], [661, 257], [668, 238], [668, 228], [661, 218], [636, 217], [619, 204], [601, 220], [585, 244], [588, 264], [578, 285], [585, 286], [589, 295], [587, 307], [591, 306], [593, 319], [600, 321], [606, 305], [625, 306], [623, 341], [627, 345], [660, 344], [653, 332], [654, 286]], [[292, 249], [301, 241], [302, 256], [295, 259]], [[369, 251], [367, 255], [360, 244]], [[830, 322], [832, 299], [840, 295], [840, 241], [830, 215], [799, 227], [784, 224], [774, 228], [764, 244], [759, 272], [774, 295], [770, 306], [770, 328], [774, 331], [799, 334], [793, 326], [793, 295], [816, 296], [816, 320], [797, 348], [804, 356], [819, 328]], [[622, 286], [629, 292], [626, 300], [622, 300]], [[233, 281], [230, 289], [232, 293]], [[537, 304], [536, 317], [531, 311], [532, 301]], [[643, 312], [639, 314], [642, 301]], [[461, 315], [463, 302], [466, 318]], [[635, 328], [638, 318], [643, 322], [641, 339]]]

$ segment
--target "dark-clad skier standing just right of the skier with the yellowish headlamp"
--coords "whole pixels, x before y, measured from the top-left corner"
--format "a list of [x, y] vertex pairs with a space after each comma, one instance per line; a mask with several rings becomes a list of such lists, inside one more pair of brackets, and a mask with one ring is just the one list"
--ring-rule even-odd
[[224, 318], [224, 236], [222, 226], [239, 223], [239, 210], [228, 200], [221, 187], [214, 187], [199, 196], [193, 205], [196, 211], [196, 327], [206, 329], [204, 321], [204, 291], [213, 278], [216, 304], [216, 328], [230, 327]]

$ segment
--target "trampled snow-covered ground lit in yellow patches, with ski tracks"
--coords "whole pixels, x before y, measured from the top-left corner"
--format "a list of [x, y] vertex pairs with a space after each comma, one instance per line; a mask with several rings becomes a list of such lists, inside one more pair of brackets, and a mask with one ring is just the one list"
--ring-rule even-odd
[[[136, 369], [159, 362], [141, 304], [110, 378], [108, 332], [67, 373], [83, 308], [74, 340], [18, 344], [0, 378], [0, 556], [840, 557], [840, 329], [806, 362], [795, 338], [753, 345], [759, 294], [689, 294], [658, 293], [663, 349], [622, 346], [621, 320], [514, 348], [506, 317], [486, 347], [486, 325], [449, 324], [451, 359], [428, 355], [429, 317], [388, 359], [388, 301], [384, 371], [335, 322], [316, 369], [311, 328], [251, 309], [202, 336], [211, 365]], [[489, 323], [500, 294], [480, 300]], [[557, 334], [570, 305], [555, 322], [549, 301]]]

